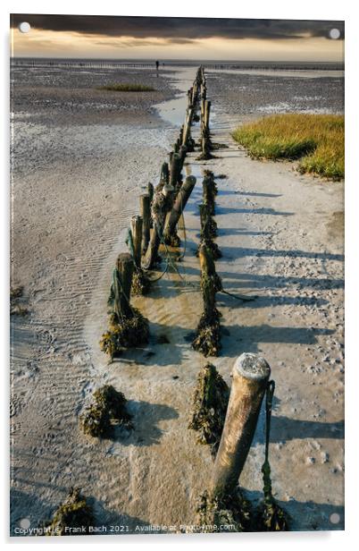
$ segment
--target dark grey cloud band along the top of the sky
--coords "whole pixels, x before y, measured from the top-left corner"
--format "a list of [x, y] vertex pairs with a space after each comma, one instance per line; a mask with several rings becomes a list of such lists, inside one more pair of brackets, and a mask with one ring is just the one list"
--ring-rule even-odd
[[185, 44], [199, 38], [329, 38], [330, 29], [340, 30], [344, 21], [221, 19], [193, 17], [115, 17], [97, 15], [34, 15], [15, 13], [12, 27], [21, 21], [43, 30], [68, 30], [105, 37], [163, 38]]

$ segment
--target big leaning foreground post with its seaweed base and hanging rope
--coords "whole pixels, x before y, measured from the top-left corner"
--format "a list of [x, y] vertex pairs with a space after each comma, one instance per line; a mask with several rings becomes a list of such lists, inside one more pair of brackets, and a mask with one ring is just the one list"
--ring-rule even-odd
[[[201, 496], [197, 509], [197, 523], [209, 525], [210, 532], [213, 531], [211, 526], [221, 524], [224, 519], [231, 519], [236, 531], [288, 530], [288, 515], [271, 494], [268, 447], [274, 382], [269, 383], [270, 375], [270, 366], [258, 354], [243, 353], [233, 366], [230, 401], [213, 476], [209, 491], [206, 490]], [[262, 467], [264, 500], [253, 511], [241, 492], [238, 480], [252, 445], [265, 393], [266, 437]]]

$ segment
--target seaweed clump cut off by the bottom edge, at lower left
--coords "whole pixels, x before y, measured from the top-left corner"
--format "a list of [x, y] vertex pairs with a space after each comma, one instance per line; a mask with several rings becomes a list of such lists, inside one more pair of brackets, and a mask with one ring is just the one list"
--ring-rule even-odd
[[86, 498], [80, 494], [80, 488], [71, 487], [66, 497], [56, 511], [52, 521], [44, 523], [46, 536], [83, 536], [89, 533], [93, 526], [94, 514]]

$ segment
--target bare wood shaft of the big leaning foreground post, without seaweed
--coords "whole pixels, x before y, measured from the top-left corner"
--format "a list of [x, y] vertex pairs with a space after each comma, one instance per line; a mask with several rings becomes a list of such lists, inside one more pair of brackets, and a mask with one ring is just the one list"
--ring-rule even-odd
[[270, 375], [270, 366], [258, 354], [241, 354], [233, 366], [230, 402], [214, 462], [213, 496], [230, 494], [238, 485]]

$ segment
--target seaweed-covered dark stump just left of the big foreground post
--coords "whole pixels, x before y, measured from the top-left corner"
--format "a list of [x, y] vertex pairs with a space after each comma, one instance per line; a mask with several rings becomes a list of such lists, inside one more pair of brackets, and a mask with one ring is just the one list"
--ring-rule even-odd
[[197, 431], [199, 444], [211, 445], [215, 457], [221, 441], [230, 388], [217, 369], [207, 363], [197, 377], [193, 412], [188, 428]]

